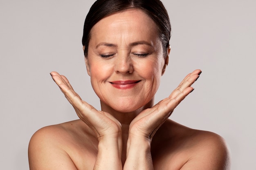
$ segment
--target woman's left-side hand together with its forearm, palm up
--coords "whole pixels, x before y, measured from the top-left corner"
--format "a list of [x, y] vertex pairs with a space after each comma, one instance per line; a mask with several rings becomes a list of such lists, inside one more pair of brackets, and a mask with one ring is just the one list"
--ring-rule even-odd
[[[121, 124], [109, 113], [99, 111], [83, 101], [74, 91], [67, 78], [51, 72], [54, 82], [76, 110], [78, 117], [87, 124], [98, 138], [98, 155], [94, 170], [121, 170], [122, 137]], [[111, 155], [111, 157], [109, 157]]]

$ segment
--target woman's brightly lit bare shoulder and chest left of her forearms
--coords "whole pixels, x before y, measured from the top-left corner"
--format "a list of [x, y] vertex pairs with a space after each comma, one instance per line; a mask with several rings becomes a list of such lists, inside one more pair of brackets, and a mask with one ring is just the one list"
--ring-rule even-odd
[[[82, 129], [79, 127], [79, 121], [46, 126], [36, 131], [29, 142], [30, 170], [77, 170], [84, 166], [81, 165], [84, 161], [79, 161], [90, 157], [90, 145], [85, 145], [87, 138], [90, 137], [81, 135], [85, 133], [80, 131]], [[84, 154], [83, 157], [79, 155], [81, 152]]]

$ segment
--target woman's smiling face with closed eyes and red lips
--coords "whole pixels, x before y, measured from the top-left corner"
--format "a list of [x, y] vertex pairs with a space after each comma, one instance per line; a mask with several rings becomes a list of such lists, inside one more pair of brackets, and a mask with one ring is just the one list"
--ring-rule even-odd
[[155, 22], [138, 9], [92, 27], [85, 63], [101, 105], [132, 112], [153, 102], [168, 62], [158, 35]]

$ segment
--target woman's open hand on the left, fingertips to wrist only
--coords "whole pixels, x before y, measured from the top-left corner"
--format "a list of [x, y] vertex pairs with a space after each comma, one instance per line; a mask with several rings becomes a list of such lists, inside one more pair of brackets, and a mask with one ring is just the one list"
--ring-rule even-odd
[[99, 140], [109, 136], [121, 136], [121, 124], [115, 117], [109, 113], [97, 110], [83, 101], [64, 75], [60, 75], [54, 71], [50, 74], [67, 100], [74, 107], [78, 117], [94, 131]]

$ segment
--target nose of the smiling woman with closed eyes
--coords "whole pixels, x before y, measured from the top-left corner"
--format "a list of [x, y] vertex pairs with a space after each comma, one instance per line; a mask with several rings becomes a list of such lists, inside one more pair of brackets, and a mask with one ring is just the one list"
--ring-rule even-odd
[[132, 59], [128, 53], [119, 53], [115, 59], [115, 71], [117, 73], [126, 74], [133, 72]]

